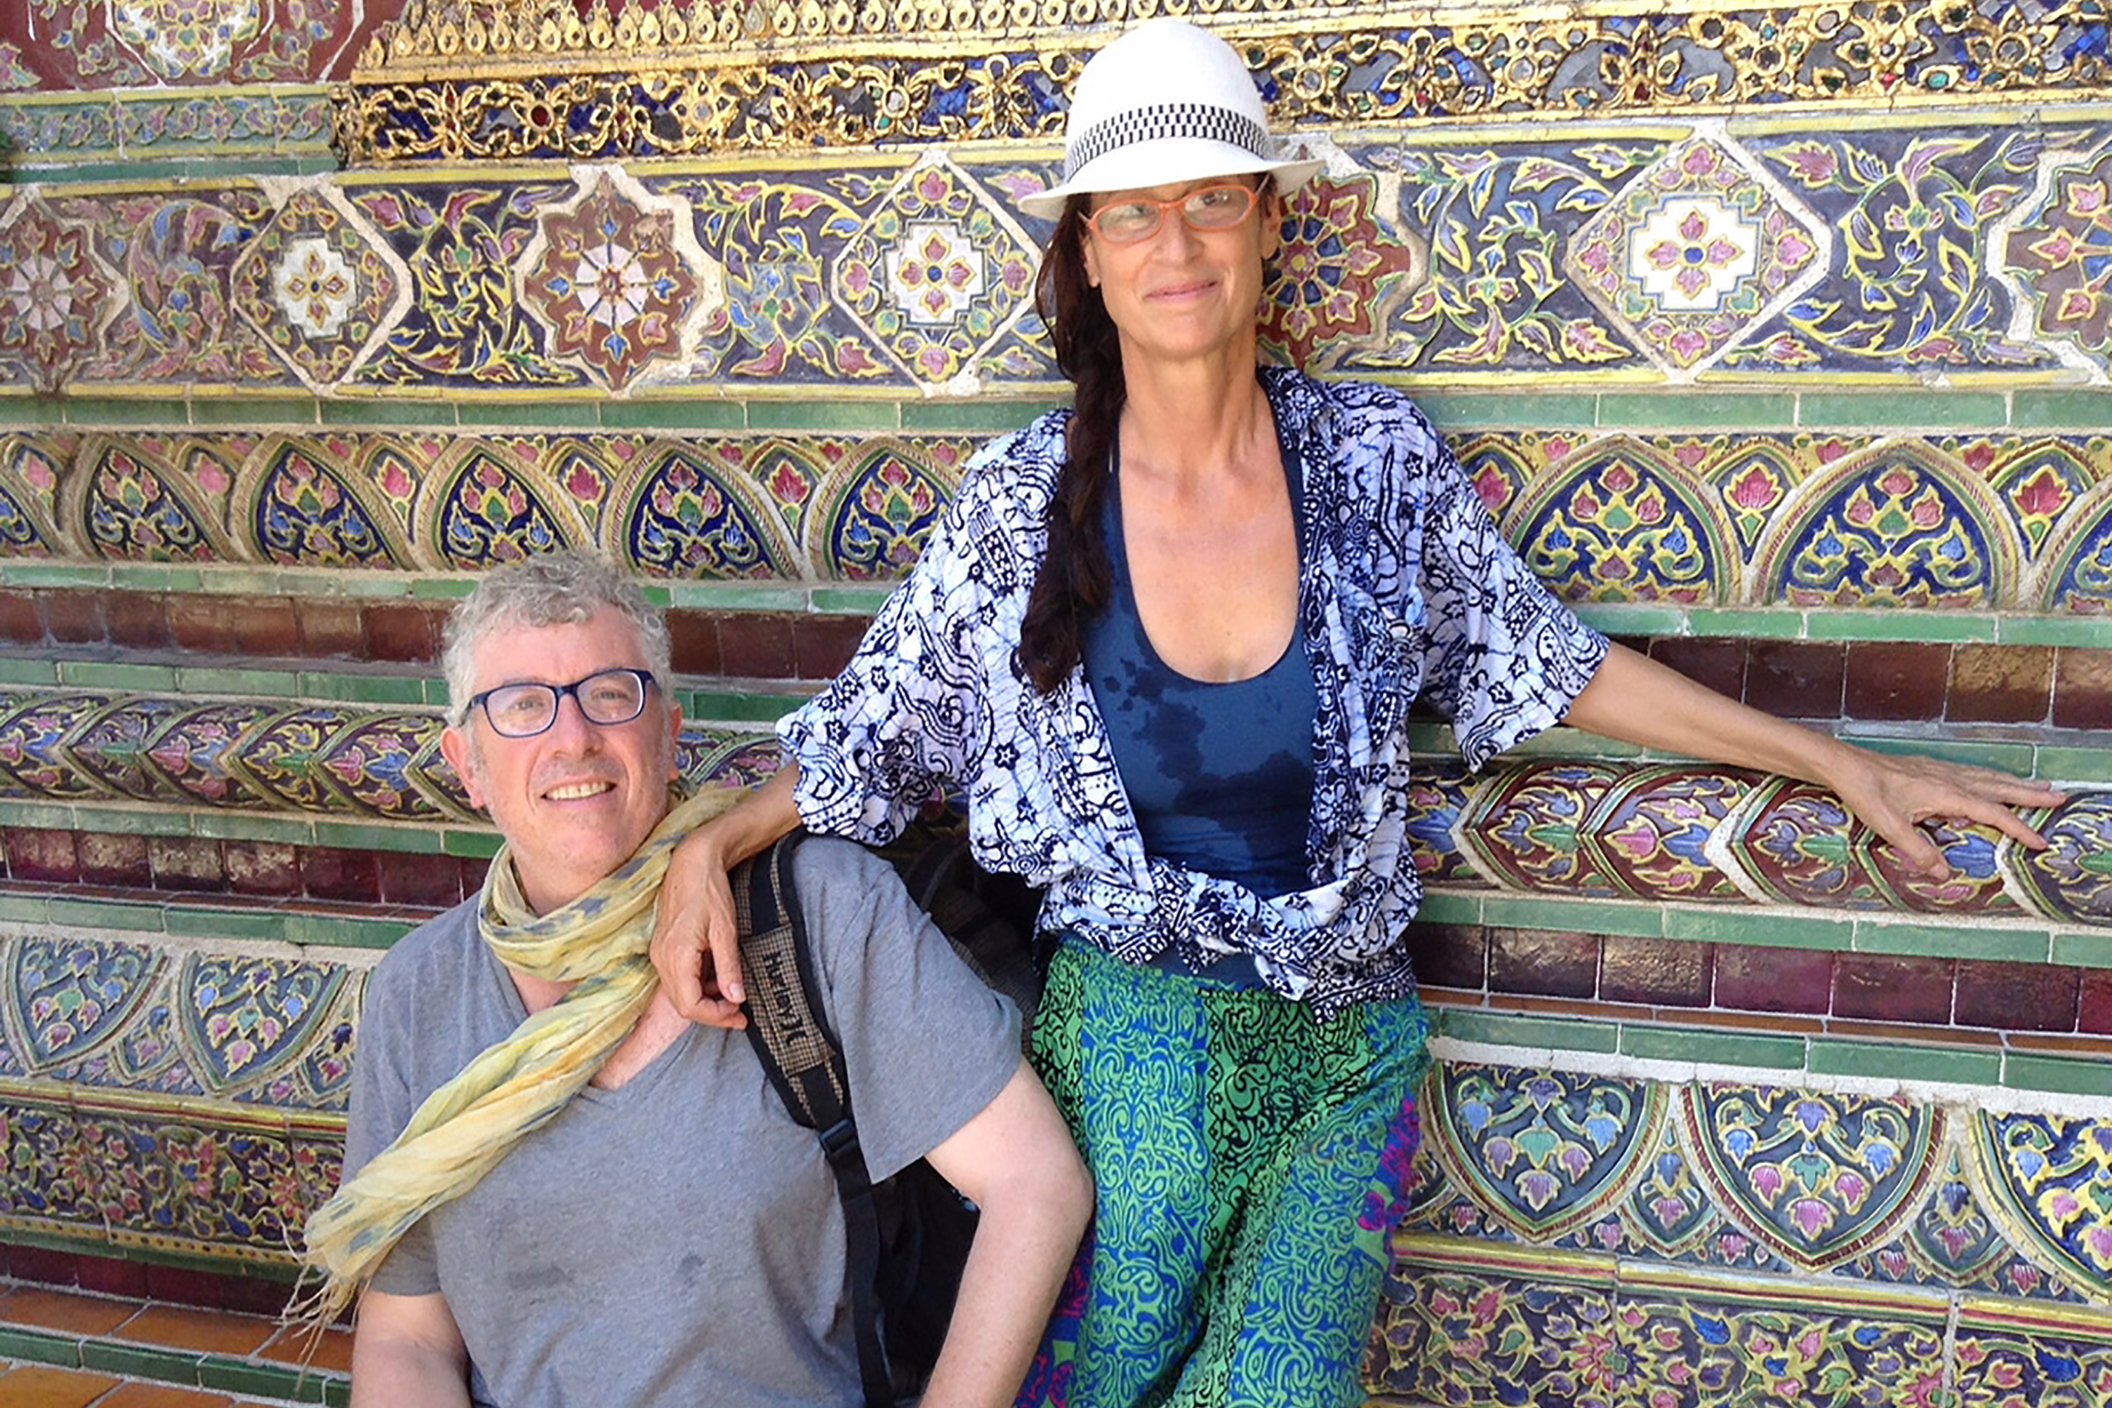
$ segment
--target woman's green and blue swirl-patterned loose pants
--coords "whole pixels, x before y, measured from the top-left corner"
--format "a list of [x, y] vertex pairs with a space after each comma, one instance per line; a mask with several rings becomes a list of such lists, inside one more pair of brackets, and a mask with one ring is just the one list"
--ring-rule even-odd
[[1426, 1039], [1064, 944], [1033, 1060], [1100, 1203], [1020, 1404], [1360, 1402]]

